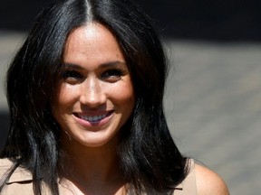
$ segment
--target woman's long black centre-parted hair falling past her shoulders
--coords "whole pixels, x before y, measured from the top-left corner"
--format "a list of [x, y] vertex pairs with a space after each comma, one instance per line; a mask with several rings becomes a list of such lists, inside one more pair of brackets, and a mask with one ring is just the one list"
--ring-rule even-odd
[[163, 112], [165, 55], [149, 18], [129, 0], [56, 1], [37, 17], [7, 72], [11, 126], [0, 157], [33, 173], [35, 194], [41, 194], [42, 181], [58, 194], [60, 128], [51, 101], [66, 38], [88, 23], [101, 23], [111, 31], [131, 72], [136, 106], [118, 148], [130, 191], [173, 190], [187, 173], [186, 158], [174, 144]]

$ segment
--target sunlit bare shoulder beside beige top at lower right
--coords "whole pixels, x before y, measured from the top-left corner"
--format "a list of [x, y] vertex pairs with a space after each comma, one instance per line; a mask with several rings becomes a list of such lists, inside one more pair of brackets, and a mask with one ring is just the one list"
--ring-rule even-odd
[[208, 168], [195, 164], [198, 195], [229, 195], [226, 183]]

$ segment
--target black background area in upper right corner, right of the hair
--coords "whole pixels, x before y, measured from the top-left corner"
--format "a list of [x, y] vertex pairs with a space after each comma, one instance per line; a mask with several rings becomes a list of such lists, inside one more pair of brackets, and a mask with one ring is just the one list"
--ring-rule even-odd
[[260, 42], [261, 1], [136, 0], [175, 39]]

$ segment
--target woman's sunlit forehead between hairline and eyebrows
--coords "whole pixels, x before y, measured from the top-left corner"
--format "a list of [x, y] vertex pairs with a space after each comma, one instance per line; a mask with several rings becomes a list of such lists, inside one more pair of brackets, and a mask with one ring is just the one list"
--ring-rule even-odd
[[124, 60], [121, 47], [114, 35], [100, 23], [88, 23], [76, 28], [68, 36], [63, 61]]

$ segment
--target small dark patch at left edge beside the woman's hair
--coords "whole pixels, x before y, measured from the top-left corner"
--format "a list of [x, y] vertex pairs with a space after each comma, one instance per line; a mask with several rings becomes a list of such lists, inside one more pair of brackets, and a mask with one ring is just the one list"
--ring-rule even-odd
[[5, 144], [7, 133], [9, 129], [9, 113], [8, 112], [0, 112], [0, 148], [2, 148]]

